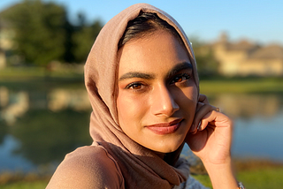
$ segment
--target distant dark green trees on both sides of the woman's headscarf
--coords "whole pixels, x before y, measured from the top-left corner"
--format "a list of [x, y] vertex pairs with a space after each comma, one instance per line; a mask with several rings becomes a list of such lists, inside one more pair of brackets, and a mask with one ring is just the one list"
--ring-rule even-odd
[[[14, 47], [5, 52], [7, 64], [85, 63], [102, 27], [97, 19], [87, 21], [83, 13], [78, 13], [73, 24], [63, 5], [42, 0], [23, 0], [0, 12], [0, 32], [14, 34], [10, 36]], [[212, 51], [203, 53], [205, 43], [195, 37], [191, 41], [200, 76], [217, 74], [218, 62]]]

